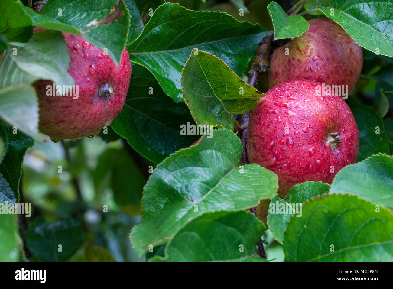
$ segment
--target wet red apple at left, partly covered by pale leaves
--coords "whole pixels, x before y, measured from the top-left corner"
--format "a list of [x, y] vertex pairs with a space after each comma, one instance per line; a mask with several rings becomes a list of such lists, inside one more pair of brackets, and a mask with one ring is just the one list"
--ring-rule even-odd
[[[42, 29], [36, 28], [35, 32]], [[73, 96], [47, 96], [51, 81], [40, 80], [34, 86], [39, 97], [41, 133], [54, 140], [77, 140], [97, 135], [116, 118], [123, 108], [132, 73], [127, 50], [124, 49], [119, 66], [103, 50], [82, 37], [62, 33], [70, 52], [67, 70], [79, 88], [78, 99]], [[99, 95], [100, 88], [111, 85], [113, 94]]]

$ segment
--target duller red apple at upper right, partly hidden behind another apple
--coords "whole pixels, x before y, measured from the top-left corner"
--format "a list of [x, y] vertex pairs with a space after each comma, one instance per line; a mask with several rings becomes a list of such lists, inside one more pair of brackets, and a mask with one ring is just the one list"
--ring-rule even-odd
[[261, 77], [264, 90], [288, 80], [311, 79], [348, 85], [351, 92], [362, 70], [362, 48], [330, 19], [316, 18], [309, 24], [303, 35], [274, 50], [270, 70]]

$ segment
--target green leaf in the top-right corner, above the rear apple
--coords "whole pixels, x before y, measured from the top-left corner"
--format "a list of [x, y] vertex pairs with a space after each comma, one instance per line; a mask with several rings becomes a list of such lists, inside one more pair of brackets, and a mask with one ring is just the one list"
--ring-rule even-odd
[[320, 10], [340, 24], [360, 46], [393, 56], [392, 0], [335, 0], [329, 8]]

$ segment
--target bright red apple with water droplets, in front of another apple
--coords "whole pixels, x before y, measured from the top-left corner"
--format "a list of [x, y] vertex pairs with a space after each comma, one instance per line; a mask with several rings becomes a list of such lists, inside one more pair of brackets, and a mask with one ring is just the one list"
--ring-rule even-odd
[[[318, 85], [305, 79], [281, 83], [252, 111], [248, 159], [278, 175], [280, 196], [305, 181], [331, 184], [358, 156], [359, 131], [351, 110], [331, 90], [325, 90], [327, 96], [316, 95]], [[340, 133], [341, 143], [329, 143], [331, 133]]]

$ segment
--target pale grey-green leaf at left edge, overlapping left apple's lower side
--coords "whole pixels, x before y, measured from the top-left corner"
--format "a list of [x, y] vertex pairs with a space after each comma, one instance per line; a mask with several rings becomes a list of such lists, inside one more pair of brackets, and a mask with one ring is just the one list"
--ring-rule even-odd
[[26, 84], [0, 88], [0, 118], [28, 136], [40, 139], [35, 89]]

